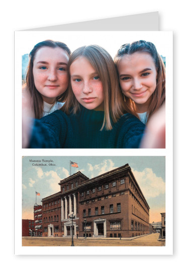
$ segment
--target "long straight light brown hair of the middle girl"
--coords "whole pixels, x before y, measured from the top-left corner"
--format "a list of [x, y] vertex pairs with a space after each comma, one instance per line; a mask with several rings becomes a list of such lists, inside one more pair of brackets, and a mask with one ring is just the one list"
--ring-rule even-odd
[[[91, 66], [97, 71], [104, 91], [104, 122], [101, 130], [105, 127], [106, 130], [112, 129], [112, 122], [116, 123], [120, 117], [127, 112], [121, 90], [116, 67], [110, 54], [98, 45], [83, 46], [76, 49], [70, 56], [68, 62], [68, 73], [70, 76], [70, 66], [79, 57], [86, 58]], [[80, 104], [76, 100], [72, 88], [71, 81], [66, 91], [66, 101], [61, 110], [69, 114], [74, 114], [80, 110]]]

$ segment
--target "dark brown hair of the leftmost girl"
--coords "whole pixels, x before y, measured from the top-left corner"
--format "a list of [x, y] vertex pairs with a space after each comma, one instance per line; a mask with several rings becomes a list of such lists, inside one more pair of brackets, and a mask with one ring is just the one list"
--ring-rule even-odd
[[[29, 65], [28, 65], [28, 71], [26, 74], [26, 89], [30, 93], [30, 96], [32, 99], [32, 108], [34, 111], [34, 116], [37, 119], [40, 119], [43, 116], [43, 98], [35, 87], [33, 66], [34, 66], [34, 59], [35, 59], [36, 52], [42, 47], [52, 47], [52, 48], [59, 47], [63, 49], [64, 51], [66, 51], [68, 56], [71, 54], [71, 51], [69, 50], [66, 44], [52, 41], [52, 40], [46, 40], [46, 41], [36, 44], [34, 48], [32, 49], [32, 51], [30, 52], [29, 54], [30, 60], [29, 60]], [[56, 97], [56, 101], [62, 102], [64, 101], [64, 97], [65, 97], [65, 92], [59, 95], [58, 97]]]

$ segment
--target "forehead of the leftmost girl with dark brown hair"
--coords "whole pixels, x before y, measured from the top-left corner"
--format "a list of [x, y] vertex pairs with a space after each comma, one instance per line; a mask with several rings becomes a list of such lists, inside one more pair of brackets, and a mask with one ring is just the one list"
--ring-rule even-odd
[[41, 47], [35, 54], [34, 61], [62, 61], [68, 62], [67, 52], [60, 47]]

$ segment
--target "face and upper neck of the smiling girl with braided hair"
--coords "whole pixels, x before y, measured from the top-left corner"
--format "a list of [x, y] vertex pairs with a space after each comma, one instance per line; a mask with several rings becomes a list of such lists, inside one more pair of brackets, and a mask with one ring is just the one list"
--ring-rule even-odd
[[118, 63], [118, 73], [122, 92], [135, 102], [138, 113], [146, 112], [156, 88], [157, 72], [151, 55], [124, 55]]

